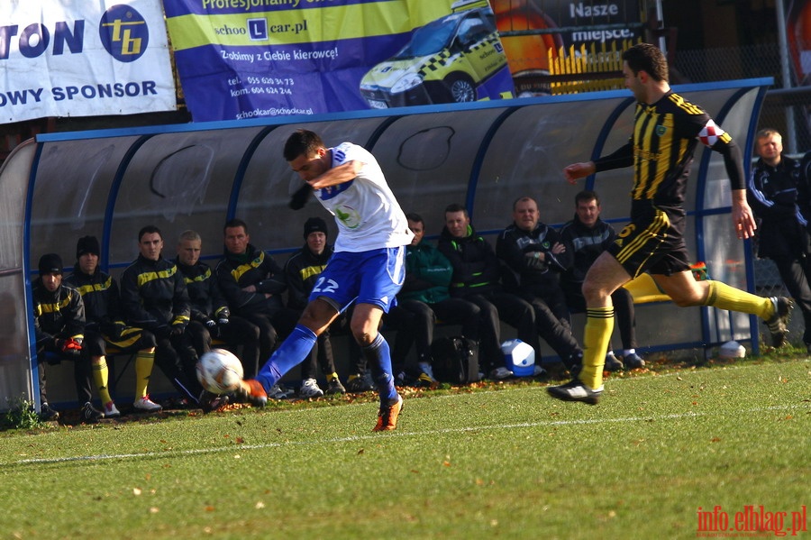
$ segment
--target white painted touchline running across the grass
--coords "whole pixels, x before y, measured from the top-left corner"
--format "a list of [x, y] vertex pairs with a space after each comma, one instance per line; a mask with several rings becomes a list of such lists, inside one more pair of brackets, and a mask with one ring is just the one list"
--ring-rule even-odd
[[[752, 413], [761, 413], [774, 410], [789, 410], [795, 408], [805, 408], [799, 405], [775, 405], [771, 407], [754, 407], [750, 409], [736, 410], [734, 413], [749, 415]], [[592, 424], [626, 424], [632, 422], [650, 422], [653, 420], [679, 420], [681, 418], [697, 418], [700, 416], [715, 416], [722, 413], [697, 413], [687, 412], [662, 416], [624, 416], [622, 418], [592, 418], [581, 420], [546, 420], [542, 422], [522, 422], [520, 424], [506, 424], [496, 426], [470, 426], [470, 427], [455, 427], [445, 429], [429, 429], [419, 432], [393, 432], [389, 436], [411, 437], [415, 435], [442, 435], [449, 433], [469, 433], [473, 431], [488, 431], [498, 429], [522, 429], [526, 427], [540, 427], [540, 426], [578, 426], [578, 425], [592, 425]], [[723, 413], [726, 414], [726, 413]], [[155, 458], [155, 457], [178, 457], [183, 455], [196, 455], [202, 453], [221, 453], [221, 452], [234, 452], [245, 450], [262, 450], [268, 448], [279, 448], [282, 446], [292, 445], [309, 445], [309, 444], [324, 444], [324, 443], [350, 443], [354, 441], [366, 440], [380, 440], [381, 435], [352, 435], [350, 437], [334, 437], [326, 439], [316, 439], [308, 441], [287, 441], [284, 443], [268, 443], [268, 444], [239, 444], [233, 446], [222, 446], [218, 448], [197, 448], [193, 450], [179, 450], [177, 452], [144, 452], [144, 453], [100, 453], [95, 455], [77, 455], [73, 457], [62, 458], [39, 458], [20, 460], [17, 462], [8, 462], [0, 465], [0, 467], [14, 467], [18, 465], [41, 465], [50, 463], [64, 463], [64, 462], [95, 462], [103, 460], [121, 460], [132, 458]]]

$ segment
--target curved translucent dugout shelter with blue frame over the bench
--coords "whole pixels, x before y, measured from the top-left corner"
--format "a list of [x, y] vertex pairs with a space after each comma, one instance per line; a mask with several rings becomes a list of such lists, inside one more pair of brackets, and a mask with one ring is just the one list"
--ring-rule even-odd
[[[748, 169], [758, 115], [771, 84], [765, 78], [675, 89], [733, 135]], [[51, 133], [24, 142], [0, 169], [0, 334], [5, 345], [0, 408], [20, 397], [39, 407], [30, 288], [41, 254], [58, 252], [67, 274], [77, 239], [93, 234], [102, 246], [101, 267], [118, 278], [136, 258], [137, 233], [146, 224], [161, 229], [169, 258], [176, 256], [179, 233], [196, 230], [203, 237], [203, 260], [212, 265], [223, 252], [223, 224], [232, 217], [246, 221], [251, 243], [280, 263], [303, 245], [307, 217], [326, 219], [334, 239], [333, 220], [314, 199], [297, 212], [287, 207], [300, 180], [281, 151], [297, 127], [320, 133], [329, 146], [351, 141], [372, 151], [405, 212], [424, 216], [429, 241], [442, 230], [444, 207], [460, 203], [478, 233], [495, 243], [497, 233], [512, 221], [513, 201], [524, 195], [538, 200], [544, 223], [560, 225], [574, 214], [575, 194], [594, 188], [602, 198], [603, 218], [621, 228], [630, 210], [631, 169], [601, 173], [578, 186], [570, 186], [561, 169], [624, 144], [633, 105], [627, 91], [607, 91]], [[700, 146], [691, 174], [686, 208], [693, 260], [706, 261], [714, 279], [754, 290], [752, 250], [735, 238], [730, 223], [722, 157]], [[754, 316], [652, 302], [637, 307], [637, 324], [643, 352], [707, 351], [732, 339], [758, 349]], [[582, 324], [576, 320], [574, 326], [581, 337]], [[505, 328], [505, 339], [511, 331]], [[553, 360], [550, 350], [542, 352], [544, 361]], [[72, 368], [66, 363], [59, 366], [62, 375], [49, 371], [52, 404], [75, 402]], [[156, 368], [150, 387], [159, 387], [161, 378]], [[170, 388], [168, 383], [164, 388]], [[125, 402], [132, 398], [132, 384], [120, 383], [115, 392], [114, 398]]]

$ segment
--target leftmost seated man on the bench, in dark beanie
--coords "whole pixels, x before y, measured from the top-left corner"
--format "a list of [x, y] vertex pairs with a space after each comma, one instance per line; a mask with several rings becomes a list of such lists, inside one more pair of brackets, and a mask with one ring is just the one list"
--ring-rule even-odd
[[[104, 415], [90, 403], [93, 393], [90, 385], [90, 362], [82, 354], [85, 333], [85, 306], [78, 291], [62, 283], [62, 259], [56, 253], [40, 258], [40, 276], [33, 282], [34, 334], [39, 362], [40, 416], [42, 420], [56, 420], [59, 413], [48, 404], [45, 385], [45, 363], [56, 365], [70, 360], [74, 365], [76, 392], [82, 407], [82, 418], [95, 422]], [[43, 362], [44, 361], [44, 362]]]

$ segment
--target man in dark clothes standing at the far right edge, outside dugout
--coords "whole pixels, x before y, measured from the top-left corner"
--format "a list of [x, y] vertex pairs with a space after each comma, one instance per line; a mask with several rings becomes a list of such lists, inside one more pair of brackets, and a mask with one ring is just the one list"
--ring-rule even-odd
[[[811, 352], [811, 244], [807, 231], [808, 201], [798, 197], [807, 178], [801, 163], [783, 155], [783, 138], [777, 130], [762, 129], [756, 135], [755, 151], [760, 159], [752, 169], [747, 200], [760, 220], [758, 256], [771, 259], [780, 279], [794, 298], [806, 323], [803, 343]], [[802, 211], [806, 208], [806, 215]], [[786, 334], [771, 335], [771, 344], [786, 343]]]

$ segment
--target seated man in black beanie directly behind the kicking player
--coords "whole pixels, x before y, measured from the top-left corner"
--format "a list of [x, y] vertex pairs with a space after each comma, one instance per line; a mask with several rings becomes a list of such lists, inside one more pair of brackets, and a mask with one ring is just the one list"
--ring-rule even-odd
[[[327, 261], [333, 255], [333, 246], [327, 243], [326, 222], [320, 217], [310, 217], [304, 226], [305, 245], [293, 253], [285, 263], [285, 278], [287, 280], [287, 307], [296, 310], [296, 318], [301, 316], [307, 306], [307, 299], [313, 291], [315, 281], [326, 267]], [[338, 373], [335, 371], [333, 356], [333, 343], [330, 341], [330, 332], [326, 330], [315, 341], [315, 356], [311, 354], [301, 363], [301, 389], [298, 394], [302, 398], [318, 398], [323, 396], [323, 390], [315, 381], [316, 364], [327, 378], [327, 394], [343, 394], [343, 388]]]

